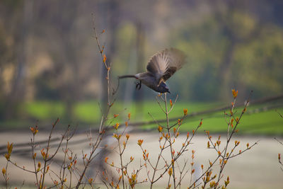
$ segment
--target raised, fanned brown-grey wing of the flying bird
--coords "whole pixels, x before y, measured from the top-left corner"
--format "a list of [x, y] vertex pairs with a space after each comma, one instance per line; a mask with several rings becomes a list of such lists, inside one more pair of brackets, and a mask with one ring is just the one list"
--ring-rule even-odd
[[151, 57], [146, 69], [161, 83], [161, 81], [169, 79], [184, 63], [185, 54], [180, 50], [171, 48], [157, 52]]

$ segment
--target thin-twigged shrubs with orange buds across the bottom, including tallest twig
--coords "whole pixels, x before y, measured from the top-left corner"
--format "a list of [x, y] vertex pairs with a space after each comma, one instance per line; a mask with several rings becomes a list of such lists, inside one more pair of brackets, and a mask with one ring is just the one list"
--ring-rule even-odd
[[[94, 26], [94, 21], [93, 21]], [[93, 27], [98, 49], [102, 58], [102, 62], [106, 71], [105, 79], [107, 80], [108, 88], [108, 102], [106, 105], [106, 111], [103, 113], [99, 125], [94, 137], [90, 135], [89, 139], [89, 152], [82, 154], [75, 154], [69, 147], [69, 142], [74, 137], [74, 131], [67, 127], [67, 130], [59, 138], [56, 147], [51, 150], [52, 134], [59, 119], [52, 124], [49, 137], [45, 142], [45, 147], [38, 144], [36, 140], [36, 134], [38, 132], [38, 126], [30, 127], [32, 132], [32, 138], [30, 140], [30, 160], [33, 162], [33, 169], [25, 168], [25, 166], [13, 161], [11, 154], [13, 151], [13, 143], [7, 144], [7, 153], [4, 155], [6, 158], [6, 166], [2, 168], [2, 174], [6, 188], [9, 188], [9, 174], [8, 165], [16, 166], [22, 171], [33, 173], [35, 176], [35, 186], [37, 188], [97, 188], [104, 185], [106, 188], [134, 188], [139, 183], [144, 183], [148, 188], [154, 188], [154, 185], [158, 181], [165, 183], [166, 188], [181, 188], [181, 185], [185, 185], [187, 188], [226, 188], [230, 183], [229, 176], [224, 176], [224, 168], [231, 159], [241, 156], [244, 152], [250, 150], [255, 144], [246, 144], [246, 149], [238, 149], [240, 141], [234, 140], [234, 136], [238, 132], [238, 125], [241, 124], [241, 118], [246, 113], [246, 109], [249, 103], [246, 104], [241, 111], [237, 113], [234, 109], [236, 105], [236, 97], [238, 91], [232, 90], [233, 102], [228, 113], [224, 113], [227, 123], [226, 137], [212, 138], [209, 131], [205, 131], [207, 134], [208, 142], [204, 144], [208, 149], [215, 151], [216, 158], [208, 159], [208, 162], [201, 164], [200, 169], [202, 173], [195, 175], [195, 149], [190, 149], [195, 135], [202, 127], [202, 120], [195, 126], [195, 130], [187, 132], [185, 137], [180, 137], [180, 127], [182, 126], [187, 116], [187, 109], [183, 110], [183, 115], [180, 119], [174, 122], [169, 121], [169, 115], [173, 111], [174, 105], [178, 100], [176, 96], [175, 101], [171, 99], [168, 101], [166, 93], [156, 96], [156, 101], [161, 108], [161, 111], [166, 118], [166, 122], [158, 122], [150, 113], [151, 118], [156, 122], [157, 134], [158, 134], [158, 151], [149, 154], [149, 150], [144, 147], [144, 139], [138, 139], [137, 148], [140, 149], [142, 159], [136, 159], [134, 154], [130, 159], [125, 159], [125, 150], [128, 147], [130, 117], [129, 113], [125, 124], [120, 125], [119, 122], [115, 122], [118, 114], [110, 116], [110, 109], [115, 103], [115, 93], [117, 88], [110, 91], [110, 63], [107, 62], [106, 55], [104, 54], [104, 46], [100, 45], [96, 28]], [[119, 85], [118, 85], [119, 86]], [[112, 126], [112, 127], [110, 127]], [[114, 148], [112, 152], [118, 154], [119, 163], [114, 163], [108, 156], [100, 159], [100, 164], [105, 164], [106, 168], [97, 171], [94, 176], [90, 176], [87, 171], [91, 168], [92, 162], [98, 157], [100, 151], [107, 149], [102, 143], [103, 139], [107, 139], [106, 133], [110, 130], [114, 130], [112, 139], [114, 139]], [[222, 139], [224, 138], [224, 139]], [[178, 145], [177, 141], [182, 145]], [[55, 156], [58, 156], [58, 152], [62, 151], [62, 163], [54, 164]], [[189, 152], [190, 151], [190, 152]], [[187, 154], [190, 153], [190, 156]], [[39, 154], [39, 155], [38, 155]], [[169, 155], [168, 155], [169, 154]], [[186, 157], [185, 160], [180, 157]], [[139, 166], [129, 168], [134, 165], [133, 162], [138, 161]], [[116, 161], [117, 162], [117, 161]], [[280, 156], [279, 156], [279, 163]], [[58, 169], [59, 166], [59, 169]], [[57, 167], [57, 169], [56, 169]], [[141, 171], [145, 171], [146, 175], [141, 176]], [[52, 183], [47, 183], [47, 176], [50, 177]], [[185, 178], [190, 178], [190, 181], [185, 183]]]

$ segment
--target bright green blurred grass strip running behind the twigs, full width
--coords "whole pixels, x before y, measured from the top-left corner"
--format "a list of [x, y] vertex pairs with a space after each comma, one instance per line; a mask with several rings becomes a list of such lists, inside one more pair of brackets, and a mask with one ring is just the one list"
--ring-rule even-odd
[[[207, 102], [182, 102], [178, 101], [171, 111], [170, 118], [178, 118], [183, 115], [183, 109], [187, 108], [188, 115], [197, 113], [202, 110], [209, 110], [223, 107], [224, 103], [207, 103]], [[161, 105], [163, 106], [163, 104]], [[268, 105], [250, 105], [248, 111], [243, 115], [241, 124], [238, 125], [239, 133], [241, 134], [267, 134], [267, 135], [283, 135], [283, 119], [275, 111], [275, 109], [264, 110]], [[33, 120], [55, 120], [56, 118], [64, 118], [65, 106], [62, 102], [54, 101], [34, 101], [23, 103], [21, 110], [28, 118]], [[257, 111], [259, 110], [259, 111]], [[277, 108], [279, 113], [283, 113], [283, 108]], [[83, 101], [75, 103], [73, 107], [73, 116], [71, 120], [65, 122], [76, 122], [77, 125], [97, 125], [100, 121], [100, 108], [97, 101]], [[241, 108], [236, 108], [236, 112], [241, 113]], [[253, 113], [250, 113], [253, 112]], [[165, 118], [160, 106], [156, 101], [146, 101], [140, 103], [122, 103], [117, 102], [112, 106], [110, 116], [119, 114], [113, 122], [125, 122], [127, 113], [131, 113], [131, 122], [151, 121], [151, 115], [156, 120]], [[149, 113], [151, 115], [149, 115]], [[186, 118], [180, 127], [181, 132], [194, 130], [195, 127], [203, 119], [203, 124], [200, 130], [209, 130], [212, 133], [226, 132], [226, 118], [224, 111], [210, 113], [207, 115], [198, 115]], [[176, 119], [177, 121], [178, 119]], [[173, 124], [173, 122], [171, 122]], [[20, 125], [21, 121], [13, 120], [7, 123], [8, 125]], [[161, 122], [162, 124], [162, 122]], [[156, 128], [156, 124], [139, 126], [141, 129]], [[200, 132], [202, 132], [200, 131]]]

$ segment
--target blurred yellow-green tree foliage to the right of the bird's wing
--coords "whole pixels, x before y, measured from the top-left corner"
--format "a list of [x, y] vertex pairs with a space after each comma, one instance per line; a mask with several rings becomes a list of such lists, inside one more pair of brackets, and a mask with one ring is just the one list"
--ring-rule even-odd
[[[246, 5], [241, 1], [219, 2], [212, 5], [214, 16], [185, 25], [173, 36], [179, 38], [174, 44], [187, 52], [188, 62], [194, 64], [186, 75], [189, 79], [185, 93], [196, 100], [229, 99], [229, 90], [234, 87], [246, 93], [261, 88], [258, 96], [270, 95], [271, 89], [273, 93], [282, 93], [282, 77], [275, 74], [275, 69], [282, 68], [282, 28], [244, 12]], [[260, 57], [257, 63], [251, 59], [256, 52]], [[258, 74], [265, 79], [259, 79]]]

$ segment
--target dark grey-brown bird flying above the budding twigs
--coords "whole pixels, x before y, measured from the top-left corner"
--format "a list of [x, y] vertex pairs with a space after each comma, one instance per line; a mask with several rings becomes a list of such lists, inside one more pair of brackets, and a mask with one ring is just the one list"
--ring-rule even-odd
[[149, 63], [146, 66], [146, 72], [119, 76], [119, 79], [123, 78], [135, 78], [138, 79], [136, 88], [140, 89], [141, 84], [148, 86], [158, 93], [170, 93], [166, 81], [180, 69], [185, 63], [185, 54], [175, 48], [162, 50], [156, 52], [151, 57]]

